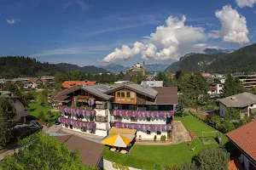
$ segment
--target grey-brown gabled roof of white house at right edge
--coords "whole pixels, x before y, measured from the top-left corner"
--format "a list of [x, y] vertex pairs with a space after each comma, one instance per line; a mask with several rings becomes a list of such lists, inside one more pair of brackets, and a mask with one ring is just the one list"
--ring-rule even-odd
[[256, 95], [245, 92], [219, 99], [218, 101], [227, 107], [244, 107], [256, 103]]

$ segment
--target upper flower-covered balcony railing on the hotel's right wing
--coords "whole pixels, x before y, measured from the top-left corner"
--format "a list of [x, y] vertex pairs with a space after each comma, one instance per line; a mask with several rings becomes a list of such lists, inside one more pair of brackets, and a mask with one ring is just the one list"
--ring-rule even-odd
[[113, 110], [114, 116], [137, 116], [137, 117], [172, 117], [174, 111], [124, 111]]

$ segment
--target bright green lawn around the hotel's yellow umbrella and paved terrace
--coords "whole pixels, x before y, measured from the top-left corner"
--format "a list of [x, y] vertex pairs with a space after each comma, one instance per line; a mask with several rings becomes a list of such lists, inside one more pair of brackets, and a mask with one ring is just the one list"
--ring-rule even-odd
[[[137, 167], [142, 169], [154, 169], [155, 164], [172, 167], [191, 161], [200, 150], [207, 147], [218, 147], [218, 144], [202, 144], [201, 132], [214, 131], [203, 122], [197, 120], [194, 116], [185, 116], [184, 118], [175, 117], [177, 121], [183, 122], [187, 130], [193, 130], [199, 139], [193, 140], [191, 145], [187, 143], [173, 145], [134, 145], [128, 155], [112, 152], [105, 147], [103, 157], [109, 161], [115, 161], [125, 166]], [[214, 133], [216, 136], [216, 133]], [[228, 139], [222, 134], [224, 143]], [[195, 151], [191, 148], [195, 147]]]

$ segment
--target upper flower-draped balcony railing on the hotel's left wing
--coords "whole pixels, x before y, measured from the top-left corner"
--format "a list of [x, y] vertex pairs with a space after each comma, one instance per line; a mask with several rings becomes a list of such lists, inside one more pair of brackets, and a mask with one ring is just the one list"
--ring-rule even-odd
[[89, 108], [72, 108], [67, 106], [59, 106], [59, 111], [61, 113], [73, 114], [73, 115], [83, 115], [83, 116], [95, 116], [96, 111], [90, 110]]

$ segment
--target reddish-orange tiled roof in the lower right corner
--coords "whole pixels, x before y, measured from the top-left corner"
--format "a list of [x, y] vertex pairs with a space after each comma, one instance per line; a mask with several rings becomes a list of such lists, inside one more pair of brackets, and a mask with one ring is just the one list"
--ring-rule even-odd
[[256, 120], [227, 133], [227, 137], [256, 163]]

